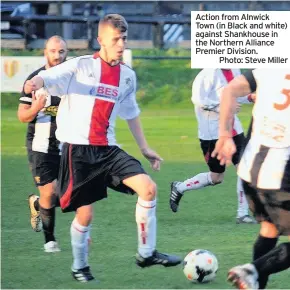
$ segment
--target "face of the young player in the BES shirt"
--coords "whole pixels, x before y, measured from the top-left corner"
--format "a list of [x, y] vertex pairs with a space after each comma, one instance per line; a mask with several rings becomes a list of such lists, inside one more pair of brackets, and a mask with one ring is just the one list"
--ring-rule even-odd
[[120, 60], [127, 43], [127, 31], [107, 26], [98, 38], [101, 47], [105, 50], [108, 60]]

